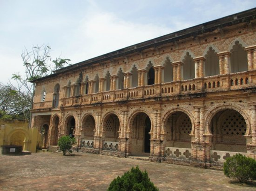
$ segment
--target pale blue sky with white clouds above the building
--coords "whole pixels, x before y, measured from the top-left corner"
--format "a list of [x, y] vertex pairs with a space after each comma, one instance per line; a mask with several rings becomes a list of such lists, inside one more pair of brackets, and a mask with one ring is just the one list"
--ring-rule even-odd
[[255, 0], [0, 0], [0, 82], [24, 73], [35, 45], [81, 62], [256, 7]]

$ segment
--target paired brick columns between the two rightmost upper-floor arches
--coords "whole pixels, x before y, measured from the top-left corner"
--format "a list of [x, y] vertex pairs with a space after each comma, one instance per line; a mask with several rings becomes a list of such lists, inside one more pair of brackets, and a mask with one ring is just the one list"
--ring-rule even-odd
[[229, 51], [218, 53], [219, 57], [219, 73], [220, 74], [229, 74], [230, 73], [230, 55]]

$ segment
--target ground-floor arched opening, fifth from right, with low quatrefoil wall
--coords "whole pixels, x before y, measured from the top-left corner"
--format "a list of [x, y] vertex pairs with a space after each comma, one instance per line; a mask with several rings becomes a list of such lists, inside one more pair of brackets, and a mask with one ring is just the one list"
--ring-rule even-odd
[[82, 120], [81, 147], [93, 148], [94, 146], [95, 120], [92, 115]]

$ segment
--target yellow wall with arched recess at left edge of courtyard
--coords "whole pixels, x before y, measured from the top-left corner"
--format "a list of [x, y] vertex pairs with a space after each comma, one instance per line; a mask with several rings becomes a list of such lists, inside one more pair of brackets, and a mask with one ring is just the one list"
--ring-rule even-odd
[[40, 143], [38, 128], [29, 128], [28, 122], [0, 119], [0, 146], [21, 145], [23, 150], [36, 152]]

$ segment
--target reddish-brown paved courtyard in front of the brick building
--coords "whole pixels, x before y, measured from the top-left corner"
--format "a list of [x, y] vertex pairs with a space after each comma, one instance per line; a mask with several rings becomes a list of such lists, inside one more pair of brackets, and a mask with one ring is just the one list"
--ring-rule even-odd
[[255, 185], [229, 183], [222, 171], [155, 163], [130, 158], [75, 153], [0, 155], [0, 190], [107, 190], [131, 167], [147, 170], [160, 190], [256, 190]]

